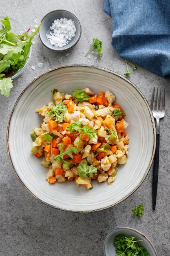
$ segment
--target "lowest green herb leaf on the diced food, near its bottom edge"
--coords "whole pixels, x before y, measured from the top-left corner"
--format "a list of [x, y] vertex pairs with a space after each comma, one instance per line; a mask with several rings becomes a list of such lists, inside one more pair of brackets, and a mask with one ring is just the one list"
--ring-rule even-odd
[[86, 177], [93, 177], [93, 175], [97, 174], [97, 168], [91, 164], [91, 166], [89, 166], [87, 164], [87, 162], [82, 162], [81, 164], [79, 164], [79, 166], [77, 167], [78, 169], [78, 175], [82, 178], [82, 179], [86, 179]]

